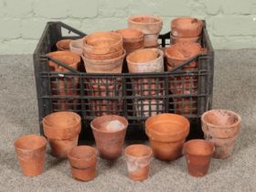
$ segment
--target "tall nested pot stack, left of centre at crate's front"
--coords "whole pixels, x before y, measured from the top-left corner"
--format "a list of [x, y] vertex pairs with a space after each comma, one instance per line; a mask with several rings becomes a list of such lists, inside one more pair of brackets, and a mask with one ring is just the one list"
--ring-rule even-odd
[[[83, 38], [83, 60], [88, 73], [122, 73], [125, 50], [123, 37], [111, 31], [92, 33]], [[119, 97], [122, 94], [121, 79], [88, 79], [86, 87], [90, 96]], [[93, 115], [118, 113], [121, 100], [89, 101]]]

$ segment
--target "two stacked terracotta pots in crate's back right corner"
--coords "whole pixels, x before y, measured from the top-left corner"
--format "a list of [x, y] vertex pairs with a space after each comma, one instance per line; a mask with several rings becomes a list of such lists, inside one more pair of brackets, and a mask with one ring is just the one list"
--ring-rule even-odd
[[193, 17], [178, 17], [171, 22], [172, 43], [198, 43], [203, 28], [203, 22]]

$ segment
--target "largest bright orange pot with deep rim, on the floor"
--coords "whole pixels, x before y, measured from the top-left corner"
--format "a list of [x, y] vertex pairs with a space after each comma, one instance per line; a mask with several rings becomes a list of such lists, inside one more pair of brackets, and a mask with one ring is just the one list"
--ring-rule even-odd
[[170, 161], [182, 154], [189, 133], [187, 118], [172, 113], [162, 113], [145, 121], [145, 133], [156, 158]]

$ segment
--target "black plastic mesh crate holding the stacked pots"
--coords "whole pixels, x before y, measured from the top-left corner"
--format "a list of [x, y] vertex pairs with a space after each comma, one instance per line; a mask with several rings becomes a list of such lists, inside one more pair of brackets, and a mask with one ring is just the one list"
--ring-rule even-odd
[[[71, 36], [63, 35], [65, 30]], [[51, 71], [46, 54], [56, 50], [56, 42], [85, 35], [61, 22], [48, 22], [38, 42], [34, 67], [40, 133], [43, 134], [43, 117], [50, 112], [65, 110], [80, 114], [80, 140], [91, 140], [91, 120], [102, 114], [116, 113], [129, 121], [126, 139], [144, 140], [144, 121], [148, 116], [175, 112], [190, 120], [190, 138], [202, 137], [200, 116], [211, 109], [214, 72], [214, 51], [205, 26], [200, 42], [203, 48], [207, 48], [207, 53], [188, 59], [169, 72], [165, 69], [162, 73], [131, 74], [124, 62], [122, 74], [89, 74], [85, 72], [82, 61], [78, 71], [58, 60], [54, 61], [70, 72]], [[170, 41], [170, 33], [159, 37], [162, 48]], [[186, 69], [191, 61], [197, 61], [197, 69]]]

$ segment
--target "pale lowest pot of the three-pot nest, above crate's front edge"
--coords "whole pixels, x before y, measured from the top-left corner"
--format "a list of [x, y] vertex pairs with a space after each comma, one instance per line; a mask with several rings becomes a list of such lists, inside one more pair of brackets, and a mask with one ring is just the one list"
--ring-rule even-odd
[[91, 60], [84, 57], [82, 59], [84, 59], [85, 69], [88, 73], [121, 73], [125, 54], [126, 52], [123, 50], [123, 55], [116, 59]]

